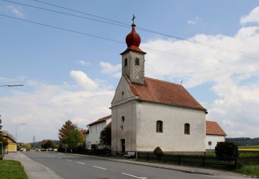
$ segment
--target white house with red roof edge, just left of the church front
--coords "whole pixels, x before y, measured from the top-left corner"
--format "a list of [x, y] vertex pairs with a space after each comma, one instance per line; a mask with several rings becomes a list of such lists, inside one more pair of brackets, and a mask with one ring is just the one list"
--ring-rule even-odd
[[86, 149], [91, 149], [91, 145], [99, 145], [99, 138], [101, 131], [111, 122], [111, 115], [99, 118], [95, 122], [88, 125], [88, 131], [86, 131]]

